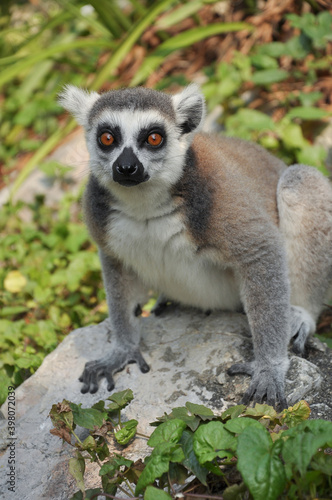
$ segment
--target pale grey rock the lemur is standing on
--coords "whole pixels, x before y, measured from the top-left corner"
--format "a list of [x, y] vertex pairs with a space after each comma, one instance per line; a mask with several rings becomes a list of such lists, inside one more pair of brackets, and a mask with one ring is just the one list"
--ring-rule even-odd
[[[150, 316], [142, 321], [142, 351], [151, 370], [142, 374], [132, 364], [115, 376], [117, 391], [130, 388], [134, 392], [135, 399], [125, 410], [125, 418], [137, 419], [140, 432], [151, 434], [150, 422], [186, 401], [207, 404], [216, 411], [239, 402], [249, 378], [229, 377], [226, 369], [252, 357], [244, 315], [206, 316], [191, 309], [173, 309], [161, 317]], [[49, 433], [52, 424], [48, 413], [52, 404], [64, 398], [88, 407], [109, 396], [105, 380], [93, 395], [81, 394], [78, 381], [86, 361], [101, 357], [105, 349], [112, 348], [109, 337], [107, 320], [72, 332], [16, 390], [15, 493], [7, 489], [8, 443], [12, 440], [4, 422], [0, 430], [4, 450], [0, 457], [1, 498], [68, 500], [76, 491], [68, 473], [73, 449]], [[293, 356], [287, 376], [289, 403], [305, 397], [309, 403], [322, 404], [317, 399], [321, 381], [314, 364]], [[8, 415], [6, 403], [2, 412]], [[138, 438], [124, 454], [137, 459], [146, 454], [147, 448], [146, 441]], [[88, 466], [85, 477], [88, 487], [100, 485], [94, 464]]]

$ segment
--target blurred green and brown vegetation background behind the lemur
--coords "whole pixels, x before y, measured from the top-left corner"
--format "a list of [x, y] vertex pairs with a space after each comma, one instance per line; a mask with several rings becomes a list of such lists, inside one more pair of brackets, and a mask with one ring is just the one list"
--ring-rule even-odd
[[[197, 81], [223, 133], [328, 175], [328, 146], [317, 141], [332, 110], [328, 5], [2, 0], [0, 190], [9, 188], [11, 200], [0, 212], [0, 402], [64, 335], [107, 316], [82, 189], [73, 194], [70, 168], [48, 159], [76, 127], [56, 101], [63, 85], [173, 92]], [[45, 193], [32, 203], [15, 198], [35, 169], [57, 180], [61, 202]], [[331, 321], [327, 314], [320, 323], [330, 345]]]

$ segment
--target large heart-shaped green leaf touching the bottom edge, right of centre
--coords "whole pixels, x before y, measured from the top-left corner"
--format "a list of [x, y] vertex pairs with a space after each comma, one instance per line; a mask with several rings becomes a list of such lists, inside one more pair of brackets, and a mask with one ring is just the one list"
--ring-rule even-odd
[[248, 427], [238, 437], [237, 468], [255, 500], [276, 500], [284, 490], [286, 475], [279, 458], [280, 444], [273, 444], [264, 429]]

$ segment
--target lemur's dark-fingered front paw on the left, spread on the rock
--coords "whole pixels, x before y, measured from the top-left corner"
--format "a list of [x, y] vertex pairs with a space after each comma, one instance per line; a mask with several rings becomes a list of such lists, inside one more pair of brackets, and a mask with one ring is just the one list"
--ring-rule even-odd
[[97, 359], [96, 361], [88, 361], [79, 378], [79, 381], [83, 382], [81, 392], [83, 394], [86, 392], [90, 392], [91, 394], [97, 392], [99, 381], [103, 377], [107, 380], [107, 390], [112, 391], [114, 389], [114, 373], [123, 370], [129, 363], [137, 363], [142, 373], [147, 373], [150, 370], [149, 365], [138, 348], [132, 351], [115, 349], [109, 356]]

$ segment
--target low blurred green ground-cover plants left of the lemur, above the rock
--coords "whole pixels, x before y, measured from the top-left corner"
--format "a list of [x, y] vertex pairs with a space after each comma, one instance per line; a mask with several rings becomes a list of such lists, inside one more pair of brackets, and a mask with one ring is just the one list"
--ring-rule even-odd
[[39, 197], [2, 207], [0, 403], [66, 333], [106, 317], [99, 259], [73, 203], [67, 196], [55, 210]]

